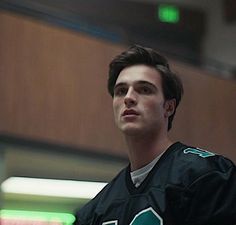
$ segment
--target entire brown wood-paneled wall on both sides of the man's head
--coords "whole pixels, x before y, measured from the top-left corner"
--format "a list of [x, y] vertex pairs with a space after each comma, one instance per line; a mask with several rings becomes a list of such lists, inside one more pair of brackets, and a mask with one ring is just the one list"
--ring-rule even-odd
[[[0, 13], [0, 132], [124, 155], [106, 91], [125, 46]], [[185, 86], [173, 139], [236, 161], [236, 83], [172, 61]]]

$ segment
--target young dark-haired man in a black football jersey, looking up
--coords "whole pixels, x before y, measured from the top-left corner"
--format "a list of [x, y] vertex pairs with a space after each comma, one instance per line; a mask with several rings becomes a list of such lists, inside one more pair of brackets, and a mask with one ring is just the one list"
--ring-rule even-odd
[[76, 215], [78, 225], [235, 225], [236, 167], [168, 137], [183, 93], [168, 62], [133, 46], [110, 64], [108, 90], [130, 165]]

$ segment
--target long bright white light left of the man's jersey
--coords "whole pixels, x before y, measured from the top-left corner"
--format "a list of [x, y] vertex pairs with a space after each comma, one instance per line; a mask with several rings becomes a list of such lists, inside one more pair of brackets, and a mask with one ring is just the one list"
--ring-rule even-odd
[[91, 199], [106, 184], [104, 182], [10, 177], [1, 184], [1, 190], [4, 193]]

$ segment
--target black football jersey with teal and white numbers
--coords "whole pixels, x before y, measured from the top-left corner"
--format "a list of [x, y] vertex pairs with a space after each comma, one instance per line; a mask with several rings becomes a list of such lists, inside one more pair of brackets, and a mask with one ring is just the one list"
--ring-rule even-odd
[[177, 142], [136, 188], [130, 166], [76, 213], [76, 225], [235, 225], [236, 166]]

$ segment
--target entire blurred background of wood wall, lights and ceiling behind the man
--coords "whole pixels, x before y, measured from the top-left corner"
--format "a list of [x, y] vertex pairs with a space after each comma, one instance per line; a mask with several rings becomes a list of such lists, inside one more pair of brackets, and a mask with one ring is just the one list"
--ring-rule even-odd
[[183, 80], [172, 139], [236, 162], [235, 40], [234, 0], [0, 0], [0, 224], [70, 225], [127, 165], [106, 81], [134, 43]]

